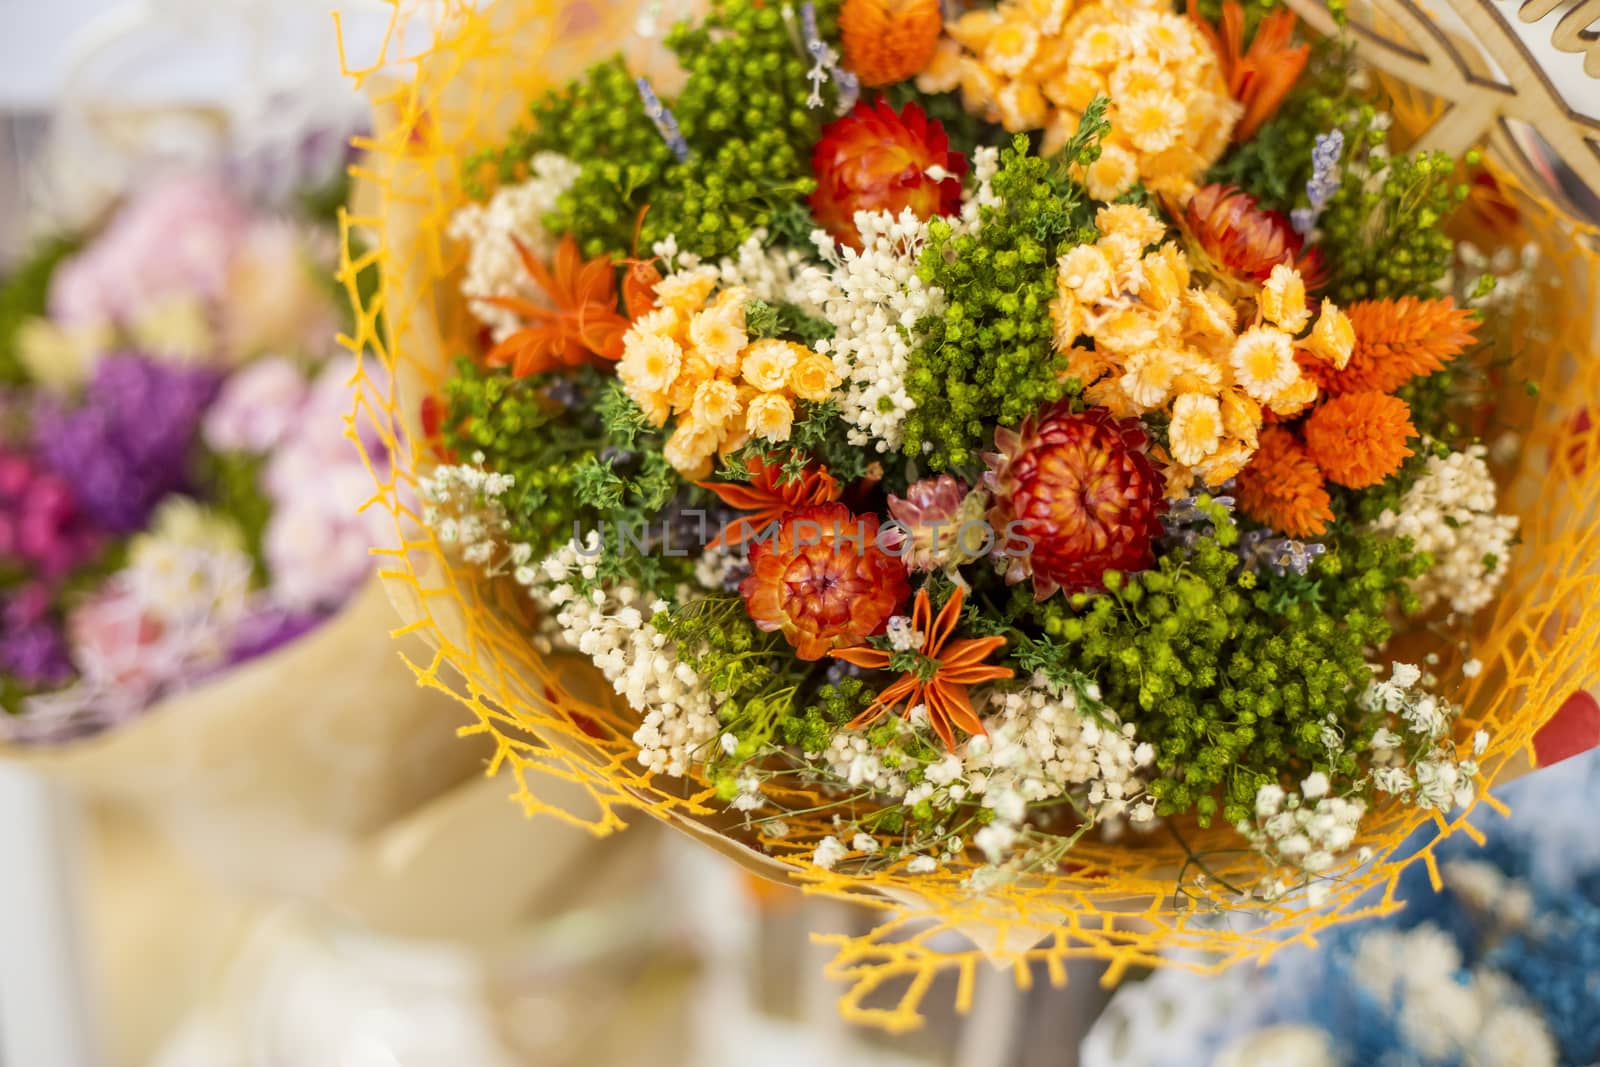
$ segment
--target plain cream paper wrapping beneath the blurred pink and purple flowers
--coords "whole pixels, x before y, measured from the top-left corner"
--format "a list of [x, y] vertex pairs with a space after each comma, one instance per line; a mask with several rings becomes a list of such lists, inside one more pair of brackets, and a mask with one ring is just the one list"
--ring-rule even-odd
[[459, 710], [416, 686], [392, 621], [370, 579], [318, 629], [133, 721], [5, 755], [136, 808], [234, 885], [322, 896], [368, 837], [483, 765], [454, 736]]

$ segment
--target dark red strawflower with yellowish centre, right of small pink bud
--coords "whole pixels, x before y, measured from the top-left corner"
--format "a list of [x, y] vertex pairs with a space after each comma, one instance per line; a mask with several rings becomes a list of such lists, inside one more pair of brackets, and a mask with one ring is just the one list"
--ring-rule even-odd
[[1074, 414], [1062, 400], [1029, 416], [1021, 430], [995, 430], [997, 453], [984, 456], [984, 483], [995, 494], [989, 523], [1008, 550], [1021, 539], [1008, 582], [1032, 576], [1043, 600], [1058, 589], [1093, 590], [1106, 571], [1142, 571], [1155, 563], [1166, 483], [1146, 454], [1138, 419], [1104, 408]]

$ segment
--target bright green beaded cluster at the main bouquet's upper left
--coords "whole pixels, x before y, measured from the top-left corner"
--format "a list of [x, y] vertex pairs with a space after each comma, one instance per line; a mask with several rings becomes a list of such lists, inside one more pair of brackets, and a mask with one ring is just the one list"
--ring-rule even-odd
[[[486, 192], [485, 178], [514, 181], [534, 152], [560, 152], [582, 173], [546, 219], [552, 232], [573, 234], [584, 253], [630, 253], [640, 211], [648, 205], [645, 245], [674, 234], [701, 256], [731, 253], [758, 226], [806, 197], [811, 144], [835, 115], [837, 94], [808, 106], [810, 59], [798, 18], [757, 0], [717, 0], [699, 24], [680, 24], [666, 38], [688, 72], [683, 90], [662, 102], [683, 136], [686, 158], [645, 114], [638, 85], [621, 59], [531, 106], [531, 122], [493, 150], [467, 162], [467, 189]], [[838, 0], [816, 3], [818, 30], [835, 34]]]

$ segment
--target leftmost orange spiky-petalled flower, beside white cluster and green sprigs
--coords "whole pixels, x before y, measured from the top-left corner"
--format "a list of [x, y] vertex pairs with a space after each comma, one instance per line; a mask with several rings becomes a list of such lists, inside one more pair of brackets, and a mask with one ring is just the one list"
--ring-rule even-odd
[[616, 264], [610, 256], [584, 261], [578, 242], [568, 234], [544, 266], [515, 237], [523, 269], [544, 290], [552, 307], [541, 307], [518, 296], [485, 296], [485, 304], [522, 315], [528, 325], [506, 338], [485, 357], [490, 366], [510, 366], [515, 378], [526, 378], [558, 366], [622, 358], [627, 318], [616, 310]]

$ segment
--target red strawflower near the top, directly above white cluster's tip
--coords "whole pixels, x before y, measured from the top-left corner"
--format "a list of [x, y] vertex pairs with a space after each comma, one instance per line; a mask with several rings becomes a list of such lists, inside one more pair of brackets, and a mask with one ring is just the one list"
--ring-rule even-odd
[[[930, 166], [947, 178], [934, 181]], [[910, 208], [918, 219], [952, 214], [962, 206], [962, 174], [966, 158], [950, 150], [944, 126], [930, 120], [915, 102], [894, 114], [888, 101], [856, 104], [843, 118], [822, 128], [811, 152], [816, 192], [811, 214], [835, 240], [861, 248], [856, 211]]]

